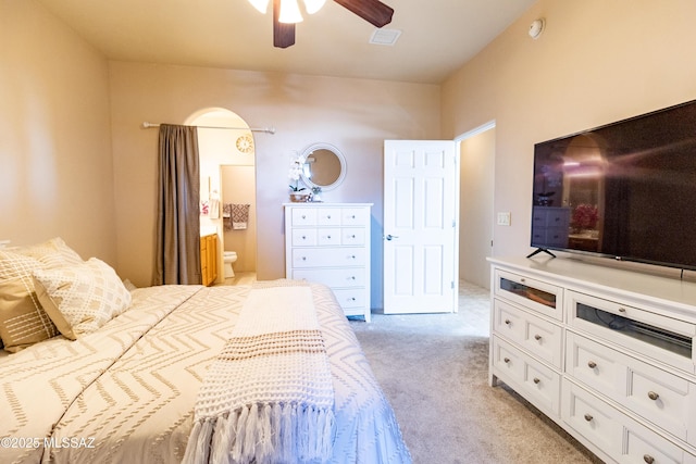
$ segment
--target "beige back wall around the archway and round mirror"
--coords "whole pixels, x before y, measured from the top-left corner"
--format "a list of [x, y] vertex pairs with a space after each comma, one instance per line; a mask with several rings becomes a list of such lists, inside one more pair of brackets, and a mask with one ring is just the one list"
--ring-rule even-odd
[[324, 201], [373, 202], [373, 302], [382, 304], [382, 146], [384, 139], [439, 137], [439, 86], [246, 71], [110, 63], [116, 224], [121, 272], [151, 281], [154, 248], [156, 129], [144, 121], [182, 124], [206, 108], [225, 108], [254, 134], [257, 273], [285, 275], [283, 202], [289, 160], [314, 142], [340, 149], [344, 184]]

